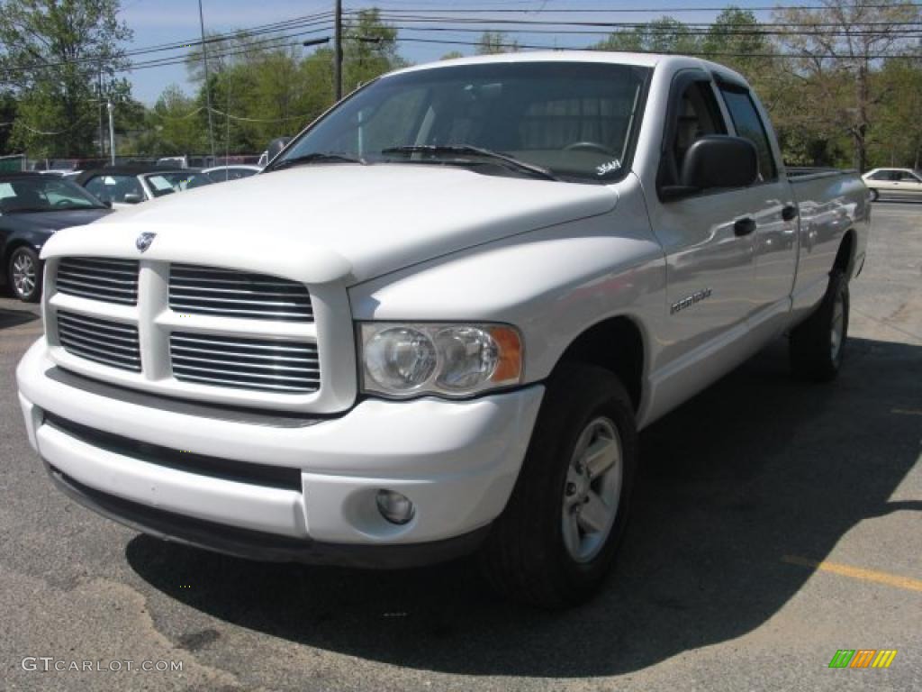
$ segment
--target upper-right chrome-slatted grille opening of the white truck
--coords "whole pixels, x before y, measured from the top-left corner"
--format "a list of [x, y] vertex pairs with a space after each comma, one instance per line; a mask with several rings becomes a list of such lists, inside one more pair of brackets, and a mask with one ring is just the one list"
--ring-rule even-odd
[[313, 322], [311, 295], [297, 281], [186, 264], [170, 266], [170, 307], [177, 313]]

